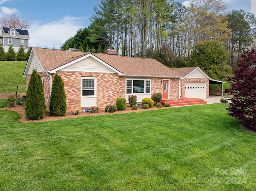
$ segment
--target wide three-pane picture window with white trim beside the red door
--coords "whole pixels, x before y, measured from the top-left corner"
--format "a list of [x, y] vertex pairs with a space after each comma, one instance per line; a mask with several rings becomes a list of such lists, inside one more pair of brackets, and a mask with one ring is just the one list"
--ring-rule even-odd
[[151, 93], [150, 79], [126, 79], [126, 94]]

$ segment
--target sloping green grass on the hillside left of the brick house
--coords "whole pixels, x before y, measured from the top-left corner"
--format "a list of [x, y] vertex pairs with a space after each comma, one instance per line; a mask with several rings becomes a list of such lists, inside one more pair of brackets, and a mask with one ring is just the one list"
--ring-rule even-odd
[[0, 61], [0, 93], [26, 93], [26, 61]]

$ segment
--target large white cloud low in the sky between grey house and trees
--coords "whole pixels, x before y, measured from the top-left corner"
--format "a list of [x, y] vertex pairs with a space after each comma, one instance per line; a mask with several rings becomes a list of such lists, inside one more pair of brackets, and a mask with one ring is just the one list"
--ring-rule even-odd
[[28, 30], [30, 36], [28, 43], [31, 46], [39, 44], [40, 47], [47, 45], [48, 48], [52, 48], [54, 45], [55, 49], [59, 49], [68, 38], [74, 36], [80, 28], [83, 28], [78, 22], [81, 19], [65, 16], [60, 21], [46, 24], [34, 22]]

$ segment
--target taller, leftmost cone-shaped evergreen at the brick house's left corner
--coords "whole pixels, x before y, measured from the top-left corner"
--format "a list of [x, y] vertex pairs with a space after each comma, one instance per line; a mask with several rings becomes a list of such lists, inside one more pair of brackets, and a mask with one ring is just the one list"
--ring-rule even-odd
[[45, 114], [44, 87], [41, 77], [35, 69], [33, 70], [28, 83], [25, 114], [28, 120], [42, 119]]

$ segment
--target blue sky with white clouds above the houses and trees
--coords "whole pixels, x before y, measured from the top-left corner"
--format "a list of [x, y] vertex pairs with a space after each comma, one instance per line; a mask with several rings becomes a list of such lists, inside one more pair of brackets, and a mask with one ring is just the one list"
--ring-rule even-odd
[[[224, 0], [228, 11], [250, 12], [250, 0]], [[59, 49], [80, 28], [91, 24], [90, 17], [99, 0], [0, 0], [0, 18], [16, 14], [29, 20], [31, 46]], [[185, 0], [179, 0], [186, 4]]]

